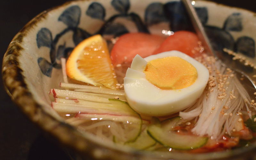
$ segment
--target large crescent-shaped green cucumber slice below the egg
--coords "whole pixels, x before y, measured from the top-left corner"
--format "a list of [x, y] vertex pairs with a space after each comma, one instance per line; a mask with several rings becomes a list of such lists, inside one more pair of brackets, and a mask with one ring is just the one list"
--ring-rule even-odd
[[194, 135], [181, 135], [172, 131], [173, 127], [181, 122], [180, 117], [174, 117], [163, 122], [148, 126], [148, 134], [165, 147], [173, 149], [195, 149], [202, 147], [208, 140], [207, 137]]

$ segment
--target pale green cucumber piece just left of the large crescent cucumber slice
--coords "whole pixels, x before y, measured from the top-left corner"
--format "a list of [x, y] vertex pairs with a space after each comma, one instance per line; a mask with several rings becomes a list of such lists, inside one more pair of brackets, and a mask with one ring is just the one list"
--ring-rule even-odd
[[132, 148], [136, 148], [136, 149], [146, 149], [149, 148], [151, 146], [154, 146], [156, 144], [156, 141], [154, 139], [152, 139], [148, 133], [147, 133], [147, 129], [143, 130], [139, 137], [136, 139], [136, 141], [134, 142], [130, 142], [130, 143], [126, 143], [127, 146], [130, 146]]

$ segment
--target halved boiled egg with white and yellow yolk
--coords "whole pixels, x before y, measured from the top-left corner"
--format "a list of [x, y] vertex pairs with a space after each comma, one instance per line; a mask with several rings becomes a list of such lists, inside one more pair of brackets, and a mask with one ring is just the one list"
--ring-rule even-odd
[[200, 97], [209, 71], [179, 51], [141, 58], [136, 55], [124, 78], [127, 102], [138, 113], [166, 116], [179, 112]]

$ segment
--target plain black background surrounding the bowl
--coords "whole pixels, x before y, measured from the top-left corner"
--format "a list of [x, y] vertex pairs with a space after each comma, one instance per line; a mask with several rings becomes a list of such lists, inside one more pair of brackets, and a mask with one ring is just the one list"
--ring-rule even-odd
[[[0, 3], [1, 59], [16, 33], [40, 12], [68, 0], [2, 0]], [[214, 0], [256, 12], [252, 0]], [[1, 61], [2, 66], [2, 61]], [[0, 78], [0, 159], [3, 160], [70, 160], [66, 149], [45, 137], [13, 104]]]

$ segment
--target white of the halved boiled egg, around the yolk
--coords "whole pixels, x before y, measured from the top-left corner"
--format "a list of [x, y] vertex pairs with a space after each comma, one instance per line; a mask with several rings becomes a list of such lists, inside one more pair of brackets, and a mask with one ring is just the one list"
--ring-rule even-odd
[[[178, 90], [163, 90], [151, 84], [143, 73], [148, 61], [177, 56], [192, 64], [197, 70], [194, 84]], [[166, 116], [179, 112], [200, 97], [209, 79], [209, 71], [201, 63], [179, 51], [163, 52], [141, 58], [136, 55], [124, 78], [127, 102], [138, 113], [148, 116]]]

